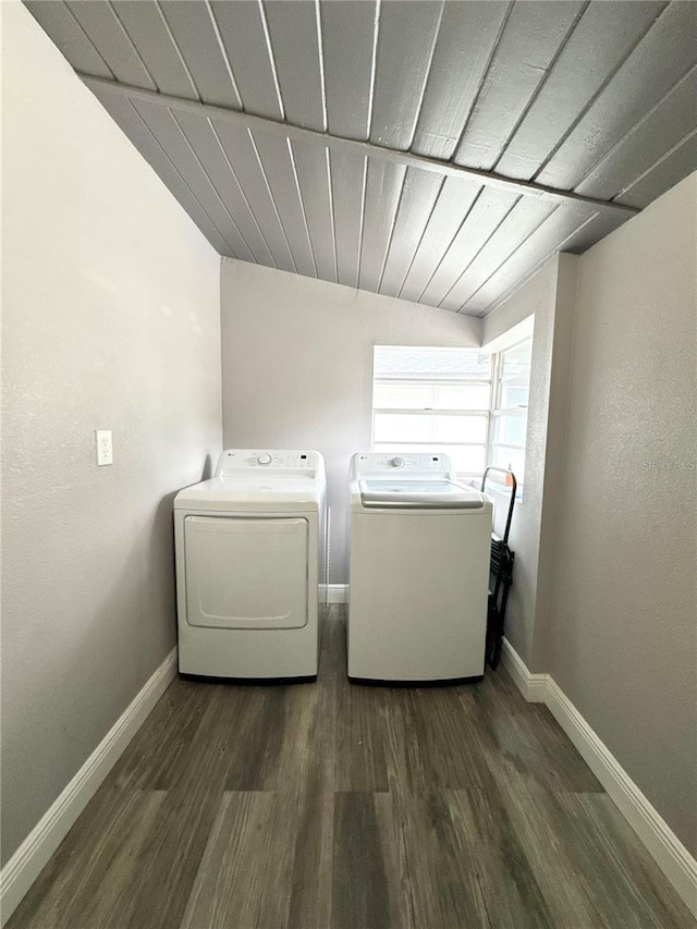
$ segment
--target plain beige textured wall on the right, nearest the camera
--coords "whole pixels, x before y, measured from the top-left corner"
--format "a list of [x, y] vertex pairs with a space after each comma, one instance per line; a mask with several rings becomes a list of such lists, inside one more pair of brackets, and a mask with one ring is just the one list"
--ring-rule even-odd
[[697, 174], [580, 260], [551, 671], [697, 853]]

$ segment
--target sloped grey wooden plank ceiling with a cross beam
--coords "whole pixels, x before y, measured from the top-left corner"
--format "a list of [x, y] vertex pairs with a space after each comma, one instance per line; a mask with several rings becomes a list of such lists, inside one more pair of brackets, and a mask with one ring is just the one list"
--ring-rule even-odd
[[697, 168], [697, 3], [27, 2], [221, 255], [485, 316]]

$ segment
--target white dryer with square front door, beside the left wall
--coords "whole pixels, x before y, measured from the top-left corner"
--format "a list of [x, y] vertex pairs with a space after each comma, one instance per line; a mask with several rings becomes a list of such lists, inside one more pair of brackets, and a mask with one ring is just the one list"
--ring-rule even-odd
[[315, 677], [326, 591], [318, 452], [227, 449], [174, 498], [179, 669]]

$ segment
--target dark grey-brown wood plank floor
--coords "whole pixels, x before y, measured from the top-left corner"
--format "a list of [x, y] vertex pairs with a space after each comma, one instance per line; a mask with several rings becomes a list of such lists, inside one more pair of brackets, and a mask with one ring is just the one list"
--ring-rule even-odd
[[335, 614], [316, 684], [175, 681], [8, 929], [695, 925], [505, 672], [350, 684]]

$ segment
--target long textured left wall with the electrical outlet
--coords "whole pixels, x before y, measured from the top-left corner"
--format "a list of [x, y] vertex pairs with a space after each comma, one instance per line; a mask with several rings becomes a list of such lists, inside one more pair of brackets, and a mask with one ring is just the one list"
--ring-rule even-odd
[[219, 452], [221, 408], [218, 256], [2, 8], [7, 860], [174, 645], [171, 500]]

